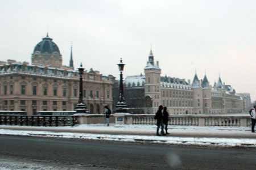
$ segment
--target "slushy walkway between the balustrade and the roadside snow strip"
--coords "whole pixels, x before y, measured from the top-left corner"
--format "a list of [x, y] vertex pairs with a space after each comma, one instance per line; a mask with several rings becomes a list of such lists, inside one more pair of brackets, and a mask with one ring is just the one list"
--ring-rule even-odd
[[[154, 125], [79, 125], [68, 127], [32, 127], [32, 126], [0, 126], [0, 129], [52, 131], [57, 133], [90, 133], [90, 134], [123, 134], [123, 135], [155, 135]], [[200, 127], [200, 126], [170, 126], [168, 137], [198, 137], [198, 138], [250, 138], [256, 139], [256, 133], [251, 133], [250, 127]]]

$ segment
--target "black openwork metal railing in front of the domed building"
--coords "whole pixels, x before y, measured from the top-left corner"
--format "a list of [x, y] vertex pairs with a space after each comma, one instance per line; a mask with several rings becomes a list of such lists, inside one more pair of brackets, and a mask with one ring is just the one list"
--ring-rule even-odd
[[75, 126], [77, 116], [0, 115], [0, 125]]

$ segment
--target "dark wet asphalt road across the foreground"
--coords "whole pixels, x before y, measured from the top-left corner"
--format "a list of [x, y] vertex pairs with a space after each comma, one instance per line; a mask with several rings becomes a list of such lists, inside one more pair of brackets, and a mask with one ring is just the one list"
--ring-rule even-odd
[[[26, 169], [27, 164], [34, 164], [37, 167], [34, 169], [62, 170], [241, 170], [256, 169], [256, 148], [149, 145], [0, 135], [0, 161], [0, 169], [6, 164], [9, 164], [10, 169], [16, 169], [17, 166]], [[11, 168], [12, 163], [16, 163], [16, 167]]]

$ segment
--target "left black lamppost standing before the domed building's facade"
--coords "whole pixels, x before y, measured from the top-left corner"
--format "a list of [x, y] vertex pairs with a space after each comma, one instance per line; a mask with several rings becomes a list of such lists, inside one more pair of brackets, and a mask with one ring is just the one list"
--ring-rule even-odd
[[77, 103], [76, 105], [76, 113], [85, 113], [87, 110], [86, 110], [86, 105], [84, 104], [84, 100], [82, 99], [82, 74], [84, 74], [84, 68], [82, 67], [82, 63], [78, 69], [79, 69], [80, 81], [79, 81], [79, 103]]

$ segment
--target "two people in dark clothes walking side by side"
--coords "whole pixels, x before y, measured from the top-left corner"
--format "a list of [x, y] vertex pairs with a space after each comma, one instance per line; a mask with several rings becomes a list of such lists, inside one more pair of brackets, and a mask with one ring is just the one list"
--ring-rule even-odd
[[[163, 112], [162, 112], [163, 110]], [[156, 135], [166, 135], [168, 133], [168, 121], [169, 121], [169, 113], [167, 111], [167, 107], [163, 107], [163, 105], [159, 105], [158, 111], [155, 114], [156, 125], [158, 128], [156, 128]], [[161, 134], [159, 134], [159, 129], [161, 126]], [[164, 133], [164, 129], [166, 130], [166, 133]]]

